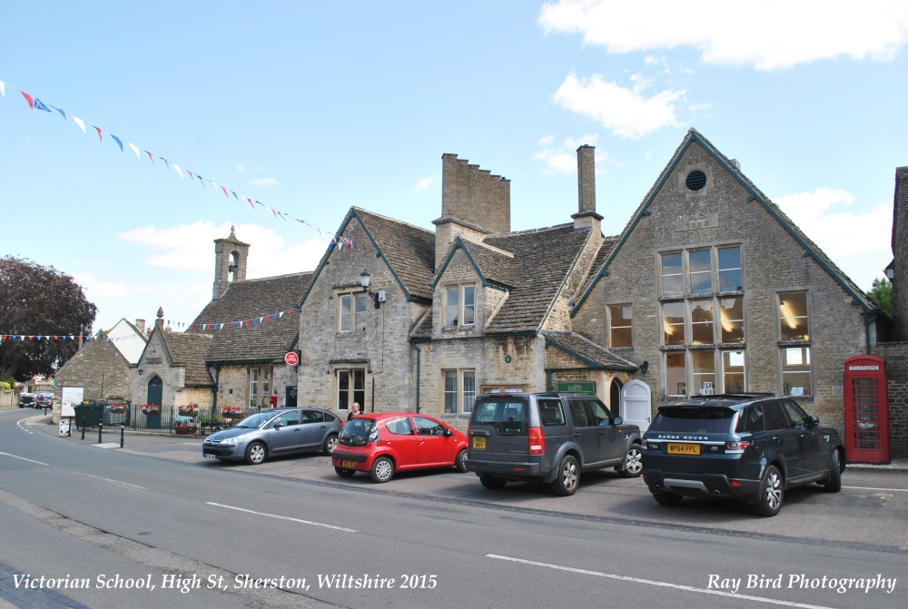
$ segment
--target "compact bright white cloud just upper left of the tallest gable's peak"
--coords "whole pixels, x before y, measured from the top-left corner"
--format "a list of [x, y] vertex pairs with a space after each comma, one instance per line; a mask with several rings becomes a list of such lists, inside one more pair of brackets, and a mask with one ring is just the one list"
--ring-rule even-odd
[[568, 78], [555, 92], [555, 102], [587, 116], [622, 137], [639, 138], [666, 125], [677, 125], [676, 106], [684, 101], [684, 91], [662, 91], [651, 97], [641, 94], [648, 85], [640, 76], [632, 77], [631, 89], [608, 83], [601, 74], [591, 78]]

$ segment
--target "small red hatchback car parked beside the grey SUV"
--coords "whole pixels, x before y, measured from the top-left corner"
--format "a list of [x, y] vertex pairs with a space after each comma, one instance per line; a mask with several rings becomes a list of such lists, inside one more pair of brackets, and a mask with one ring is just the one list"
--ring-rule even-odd
[[424, 467], [467, 471], [467, 437], [437, 418], [410, 412], [361, 414], [344, 425], [331, 453], [338, 476], [369, 472], [388, 482], [394, 472]]

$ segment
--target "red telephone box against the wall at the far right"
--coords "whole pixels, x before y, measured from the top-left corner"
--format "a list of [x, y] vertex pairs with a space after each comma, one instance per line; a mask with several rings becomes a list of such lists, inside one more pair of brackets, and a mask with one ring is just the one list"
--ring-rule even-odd
[[889, 463], [889, 403], [885, 359], [845, 359], [845, 457], [861, 463]]

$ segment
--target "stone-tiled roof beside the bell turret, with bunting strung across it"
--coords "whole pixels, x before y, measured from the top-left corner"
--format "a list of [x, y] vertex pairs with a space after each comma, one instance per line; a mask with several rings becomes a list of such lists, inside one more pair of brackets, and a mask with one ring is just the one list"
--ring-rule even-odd
[[296, 303], [311, 279], [312, 273], [305, 272], [236, 281], [220, 300], [202, 309], [186, 334], [212, 337], [204, 353], [210, 363], [281, 360], [300, 334]]

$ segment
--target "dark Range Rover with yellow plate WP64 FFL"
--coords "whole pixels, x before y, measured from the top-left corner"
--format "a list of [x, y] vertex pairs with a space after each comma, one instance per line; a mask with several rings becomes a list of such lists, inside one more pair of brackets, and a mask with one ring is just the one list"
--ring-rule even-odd
[[817, 482], [838, 492], [844, 457], [838, 433], [794, 399], [704, 396], [659, 408], [643, 438], [643, 477], [663, 506], [728, 497], [775, 516], [789, 488]]

